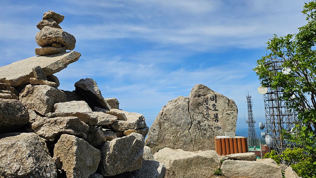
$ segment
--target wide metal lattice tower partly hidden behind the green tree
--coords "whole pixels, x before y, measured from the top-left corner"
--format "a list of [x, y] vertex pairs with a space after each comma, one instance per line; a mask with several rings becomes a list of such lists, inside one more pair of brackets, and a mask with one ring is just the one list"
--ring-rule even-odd
[[[272, 59], [267, 63], [270, 71], [282, 72], [281, 62]], [[282, 153], [286, 148], [293, 147], [293, 144], [283, 140], [280, 135], [282, 130], [290, 132], [296, 120], [296, 113], [292, 111], [284, 100], [282, 100], [283, 93], [280, 88], [271, 89], [264, 94], [264, 108], [266, 117], [266, 134], [272, 138], [272, 150], [277, 153]]]

